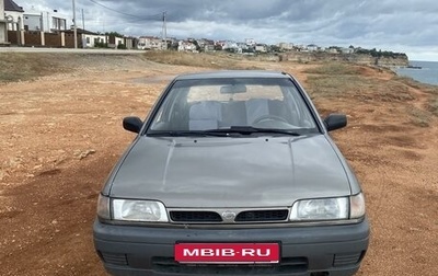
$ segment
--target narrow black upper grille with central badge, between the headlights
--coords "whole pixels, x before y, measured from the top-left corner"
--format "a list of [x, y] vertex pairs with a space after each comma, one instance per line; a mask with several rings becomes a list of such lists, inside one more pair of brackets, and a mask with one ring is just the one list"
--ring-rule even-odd
[[171, 220], [178, 223], [280, 222], [288, 215], [288, 209], [170, 210]]

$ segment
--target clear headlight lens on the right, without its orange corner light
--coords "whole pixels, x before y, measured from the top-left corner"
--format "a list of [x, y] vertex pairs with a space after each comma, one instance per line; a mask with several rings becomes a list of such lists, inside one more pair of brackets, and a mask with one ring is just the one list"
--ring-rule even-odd
[[293, 204], [290, 220], [348, 219], [348, 197], [299, 200]]

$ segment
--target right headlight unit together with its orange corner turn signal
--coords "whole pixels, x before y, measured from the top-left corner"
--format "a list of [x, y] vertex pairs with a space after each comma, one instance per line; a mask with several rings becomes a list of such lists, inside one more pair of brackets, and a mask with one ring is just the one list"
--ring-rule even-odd
[[364, 195], [298, 200], [290, 212], [291, 221], [358, 219], [365, 216]]

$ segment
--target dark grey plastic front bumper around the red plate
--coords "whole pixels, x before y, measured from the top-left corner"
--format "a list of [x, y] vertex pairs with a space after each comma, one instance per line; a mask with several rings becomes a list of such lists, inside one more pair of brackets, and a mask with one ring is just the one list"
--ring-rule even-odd
[[[113, 275], [353, 275], [369, 240], [368, 220], [355, 225], [260, 229], [181, 229], [94, 222], [94, 246]], [[280, 242], [269, 265], [187, 265], [174, 262], [176, 242]], [[324, 275], [324, 274], [322, 274]]]

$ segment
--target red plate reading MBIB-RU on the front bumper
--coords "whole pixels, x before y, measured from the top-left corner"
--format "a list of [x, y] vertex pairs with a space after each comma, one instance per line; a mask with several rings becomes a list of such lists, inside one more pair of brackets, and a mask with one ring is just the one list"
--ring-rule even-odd
[[176, 243], [175, 261], [210, 264], [275, 264], [278, 243]]

